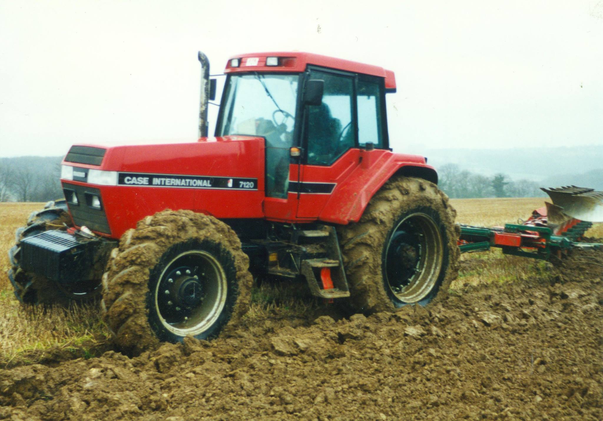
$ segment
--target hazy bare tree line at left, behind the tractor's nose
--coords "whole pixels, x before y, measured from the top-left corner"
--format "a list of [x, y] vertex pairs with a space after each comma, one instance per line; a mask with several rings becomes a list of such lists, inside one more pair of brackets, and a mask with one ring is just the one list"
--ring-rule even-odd
[[0, 202], [47, 202], [63, 197], [61, 158], [0, 158]]

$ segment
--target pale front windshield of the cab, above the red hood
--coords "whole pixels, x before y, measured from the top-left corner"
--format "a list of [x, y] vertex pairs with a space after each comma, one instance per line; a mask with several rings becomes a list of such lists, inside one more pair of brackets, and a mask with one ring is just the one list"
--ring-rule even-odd
[[291, 146], [298, 79], [259, 73], [231, 76], [217, 134], [262, 136], [273, 146]]

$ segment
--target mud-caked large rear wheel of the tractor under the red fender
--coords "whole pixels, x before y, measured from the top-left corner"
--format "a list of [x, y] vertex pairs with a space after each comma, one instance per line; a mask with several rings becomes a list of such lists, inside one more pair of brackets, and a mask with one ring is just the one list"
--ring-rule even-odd
[[459, 257], [456, 211], [437, 185], [396, 176], [371, 199], [361, 219], [339, 228], [356, 312], [425, 306], [447, 291]]

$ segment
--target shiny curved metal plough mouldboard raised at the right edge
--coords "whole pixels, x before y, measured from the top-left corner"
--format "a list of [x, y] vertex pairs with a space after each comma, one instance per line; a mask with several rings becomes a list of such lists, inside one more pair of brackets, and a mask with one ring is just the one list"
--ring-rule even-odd
[[579, 220], [603, 222], [603, 191], [575, 185], [540, 190], [549, 195], [563, 214]]

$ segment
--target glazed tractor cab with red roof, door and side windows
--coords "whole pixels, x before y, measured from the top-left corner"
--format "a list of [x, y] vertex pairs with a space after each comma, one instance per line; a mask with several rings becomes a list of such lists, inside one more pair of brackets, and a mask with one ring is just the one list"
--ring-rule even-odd
[[311, 196], [330, 194], [360, 164], [361, 150], [389, 150], [393, 72], [317, 54], [260, 53], [233, 57], [225, 73], [215, 135], [265, 138], [269, 213], [272, 204], [275, 214], [317, 217], [326, 198]]

